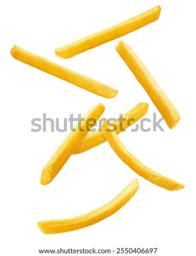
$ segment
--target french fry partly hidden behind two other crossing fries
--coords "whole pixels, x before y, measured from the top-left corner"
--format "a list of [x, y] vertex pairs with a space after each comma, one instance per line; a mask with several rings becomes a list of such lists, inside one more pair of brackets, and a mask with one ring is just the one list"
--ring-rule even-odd
[[[117, 134], [136, 123], [146, 114], [147, 111], [148, 103], [139, 103], [136, 107], [132, 108], [126, 114], [122, 115], [122, 118], [120, 119], [122, 121], [120, 121], [119, 119], [114, 121], [113, 124], [117, 127]], [[91, 132], [83, 139], [81, 144], [78, 145], [74, 154], [83, 153], [84, 151], [94, 148], [103, 142], [106, 142], [106, 137], [101, 130]]]

